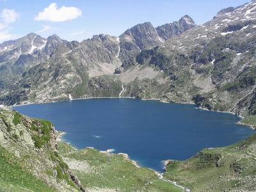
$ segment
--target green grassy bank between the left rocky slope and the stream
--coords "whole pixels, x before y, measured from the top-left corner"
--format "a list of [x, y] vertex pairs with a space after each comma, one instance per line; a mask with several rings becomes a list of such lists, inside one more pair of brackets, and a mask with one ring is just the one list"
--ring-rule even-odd
[[182, 191], [170, 182], [158, 179], [153, 170], [136, 168], [122, 155], [108, 156], [95, 149], [75, 150], [60, 142], [63, 157], [86, 162], [89, 170], [72, 170], [86, 188], [108, 188], [120, 191]]

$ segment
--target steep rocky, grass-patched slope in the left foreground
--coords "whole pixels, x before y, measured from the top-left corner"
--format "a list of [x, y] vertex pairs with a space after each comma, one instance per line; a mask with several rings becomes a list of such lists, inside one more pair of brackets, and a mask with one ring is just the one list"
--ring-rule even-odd
[[[79, 180], [58, 155], [57, 136], [51, 122], [29, 118], [8, 108], [0, 108], [1, 152], [3, 148], [8, 151], [9, 156], [13, 156], [12, 160], [8, 157], [8, 163], [15, 161], [17, 167], [20, 167], [19, 169], [15, 167], [13, 170], [15, 175], [8, 175], [11, 179], [7, 179], [5, 182], [12, 182], [12, 177], [17, 177], [17, 180], [12, 183], [15, 184], [13, 189], [19, 187], [19, 182], [20, 186], [23, 186], [20, 188], [21, 191], [33, 188], [33, 180], [31, 180], [31, 184], [24, 183], [22, 176], [18, 176], [22, 172], [26, 172], [33, 175], [29, 177], [38, 179], [39, 183], [44, 181], [44, 185], [40, 186], [44, 189], [38, 188], [39, 191], [84, 191]], [[8, 166], [8, 164], [1, 163], [1, 168]], [[0, 189], [2, 187], [1, 183]], [[9, 191], [10, 187], [6, 190]]]

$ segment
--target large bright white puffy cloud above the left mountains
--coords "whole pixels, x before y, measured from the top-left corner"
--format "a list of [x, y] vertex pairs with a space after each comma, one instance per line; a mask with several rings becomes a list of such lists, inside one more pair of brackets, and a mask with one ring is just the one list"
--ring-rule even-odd
[[81, 17], [82, 11], [74, 6], [61, 6], [58, 8], [56, 3], [51, 3], [43, 12], [39, 12], [35, 20], [49, 20], [53, 22], [62, 22]]

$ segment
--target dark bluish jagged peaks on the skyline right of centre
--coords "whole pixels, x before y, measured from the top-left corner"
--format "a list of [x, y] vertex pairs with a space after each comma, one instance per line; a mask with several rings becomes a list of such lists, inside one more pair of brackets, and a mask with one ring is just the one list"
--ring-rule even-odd
[[165, 40], [180, 35], [193, 27], [195, 27], [195, 22], [191, 17], [185, 15], [179, 21], [164, 24], [157, 28], [154, 28], [150, 22], [145, 22], [131, 29], [127, 29], [125, 33], [120, 35], [120, 59], [123, 61], [122, 66], [127, 67], [127, 65], [134, 65], [134, 63], [136, 63], [134, 62], [134, 57], [138, 55], [142, 49], [161, 45]]

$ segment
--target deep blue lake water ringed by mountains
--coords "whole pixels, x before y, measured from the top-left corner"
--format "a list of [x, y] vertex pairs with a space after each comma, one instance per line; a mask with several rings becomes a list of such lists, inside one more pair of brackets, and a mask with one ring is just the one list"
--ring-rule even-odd
[[237, 116], [156, 100], [86, 99], [15, 107], [51, 120], [77, 148], [115, 149], [161, 171], [165, 159], [187, 159], [207, 147], [236, 143], [255, 131]]

